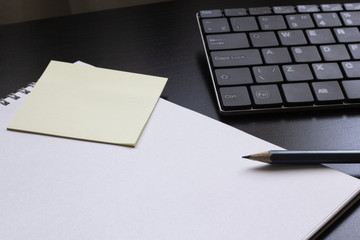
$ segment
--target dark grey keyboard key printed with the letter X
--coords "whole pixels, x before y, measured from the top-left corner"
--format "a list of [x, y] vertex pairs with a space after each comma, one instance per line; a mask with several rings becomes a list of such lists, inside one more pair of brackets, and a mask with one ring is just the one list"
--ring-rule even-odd
[[312, 64], [316, 78], [319, 80], [341, 79], [343, 75], [337, 63]]

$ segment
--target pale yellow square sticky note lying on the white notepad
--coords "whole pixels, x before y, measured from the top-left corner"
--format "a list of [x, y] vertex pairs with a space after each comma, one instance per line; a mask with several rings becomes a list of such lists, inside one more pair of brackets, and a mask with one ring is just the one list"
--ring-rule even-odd
[[8, 129], [135, 146], [166, 82], [51, 61]]

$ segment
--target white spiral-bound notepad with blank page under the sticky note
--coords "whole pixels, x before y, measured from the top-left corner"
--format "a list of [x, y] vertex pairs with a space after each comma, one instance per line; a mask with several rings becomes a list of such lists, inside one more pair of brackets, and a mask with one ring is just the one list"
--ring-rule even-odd
[[135, 148], [7, 131], [0, 105], [0, 239], [307, 239], [360, 180], [242, 155], [279, 149], [160, 99]]

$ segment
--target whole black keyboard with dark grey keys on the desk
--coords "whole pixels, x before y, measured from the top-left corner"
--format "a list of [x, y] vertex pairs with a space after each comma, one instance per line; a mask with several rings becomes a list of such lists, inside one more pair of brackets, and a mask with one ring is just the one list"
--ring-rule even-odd
[[360, 3], [197, 13], [220, 113], [360, 106]]

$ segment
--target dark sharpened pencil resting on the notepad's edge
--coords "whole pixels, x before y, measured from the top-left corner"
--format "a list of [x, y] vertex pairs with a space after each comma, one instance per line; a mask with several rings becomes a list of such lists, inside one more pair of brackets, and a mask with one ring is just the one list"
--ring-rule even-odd
[[360, 150], [270, 150], [243, 158], [272, 164], [360, 163]]

